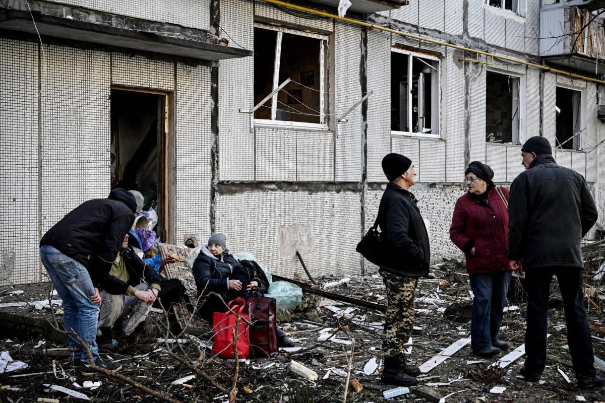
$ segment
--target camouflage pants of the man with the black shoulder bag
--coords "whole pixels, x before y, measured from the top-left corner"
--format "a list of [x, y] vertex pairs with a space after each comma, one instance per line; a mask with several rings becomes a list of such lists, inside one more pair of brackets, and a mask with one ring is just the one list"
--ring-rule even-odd
[[380, 271], [382, 282], [387, 287], [387, 312], [384, 321], [382, 351], [384, 355], [396, 355], [404, 350], [412, 334], [414, 324], [414, 291], [416, 277], [398, 276]]

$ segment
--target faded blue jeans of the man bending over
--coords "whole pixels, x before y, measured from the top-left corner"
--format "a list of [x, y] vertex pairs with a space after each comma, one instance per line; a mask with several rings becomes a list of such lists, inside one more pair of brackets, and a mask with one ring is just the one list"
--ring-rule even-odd
[[[90, 299], [94, 295], [94, 286], [87, 269], [49, 245], [40, 248], [40, 258], [54, 288], [63, 300], [65, 330], [75, 330], [90, 346], [96, 361], [99, 357], [96, 342], [99, 306]], [[68, 336], [67, 342], [72, 349], [80, 346], [73, 336]], [[82, 349], [79, 354], [82, 363], [89, 362], [85, 349]], [[78, 357], [78, 353], [75, 357]]]

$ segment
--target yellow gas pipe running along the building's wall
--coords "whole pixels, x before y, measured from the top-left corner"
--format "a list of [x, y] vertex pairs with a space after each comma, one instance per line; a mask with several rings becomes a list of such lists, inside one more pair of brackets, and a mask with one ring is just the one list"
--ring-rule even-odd
[[[545, 65], [538, 65], [536, 63], [526, 62], [525, 60], [515, 59], [514, 57], [500, 56], [498, 54], [484, 52], [482, 50], [476, 50], [476, 49], [466, 48], [466, 47], [459, 46], [459, 45], [448, 44], [447, 42], [442, 42], [440, 40], [431, 39], [431, 38], [427, 38], [427, 37], [423, 37], [423, 36], [419, 36], [419, 35], [414, 35], [414, 34], [404, 32], [404, 31], [391, 30], [391, 28], [381, 27], [379, 25], [370, 24], [369, 22], [364, 22], [364, 21], [358, 21], [358, 20], [352, 19], [352, 18], [347, 18], [347, 17], [340, 18], [338, 15], [326, 13], [325, 11], [314, 10], [313, 8], [303, 7], [302, 5], [291, 4], [291, 3], [287, 3], [284, 1], [280, 1], [280, 0], [263, 0], [263, 1], [270, 3], [270, 4], [281, 5], [282, 7], [293, 8], [295, 10], [304, 11], [306, 13], [310, 13], [310, 14], [314, 14], [314, 15], [318, 15], [318, 16], [322, 16], [322, 17], [338, 19], [339, 21], [348, 22], [349, 24], [359, 25], [360, 27], [364, 27], [364, 28], [367, 28], [370, 30], [384, 31], [384, 32], [388, 32], [391, 34], [405, 36], [405, 37], [408, 37], [411, 39], [422, 40], [423, 42], [428, 42], [430, 44], [435, 44], [435, 45], [445, 46], [448, 48], [454, 48], [457, 50], [475, 53], [475, 54], [477, 54], [477, 60], [464, 59], [464, 60], [468, 60], [468, 61], [475, 62], [475, 63], [482, 63], [478, 60], [478, 57], [479, 57], [479, 55], [483, 55], [486, 57], [491, 57], [492, 63], [493, 63], [494, 58], [500, 59], [500, 60], [506, 60], [507, 62], [518, 63], [521, 65], [530, 66], [530, 67], [534, 67], [534, 68], [545, 70], [545, 71], [551, 71], [552, 73], [562, 74], [563, 76], [572, 77], [574, 79], [582, 79], [582, 80], [586, 80], [586, 81], [590, 81], [590, 82], [594, 82], [594, 83], [605, 84], [604, 80], [593, 79], [592, 77], [582, 76], [581, 74], [569, 73], [569, 71], [564, 71], [564, 70], [552, 68], [552, 67], [545, 66]], [[489, 64], [491, 64], [491, 63], [489, 63]]]

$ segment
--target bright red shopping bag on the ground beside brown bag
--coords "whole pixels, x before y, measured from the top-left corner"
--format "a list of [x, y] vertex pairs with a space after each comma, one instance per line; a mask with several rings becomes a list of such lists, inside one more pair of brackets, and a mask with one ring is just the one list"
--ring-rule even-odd
[[[250, 321], [247, 314], [242, 311], [246, 307], [246, 301], [242, 298], [235, 298], [229, 303], [229, 308], [241, 317]], [[227, 312], [214, 312], [212, 317], [212, 332], [214, 333], [214, 343], [212, 343], [212, 355], [221, 358], [236, 358], [234, 355], [233, 344], [237, 349], [237, 358], [247, 358], [250, 351], [250, 337], [248, 324], [237, 315]], [[236, 329], [236, 324], [237, 329]]]

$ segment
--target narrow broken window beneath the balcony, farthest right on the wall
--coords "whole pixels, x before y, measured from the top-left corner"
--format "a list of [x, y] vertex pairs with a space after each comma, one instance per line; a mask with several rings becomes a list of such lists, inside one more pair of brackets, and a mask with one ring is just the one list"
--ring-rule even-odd
[[581, 148], [582, 93], [574, 89], [557, 87], [557, 141], [555, 148], [577, 150]]

